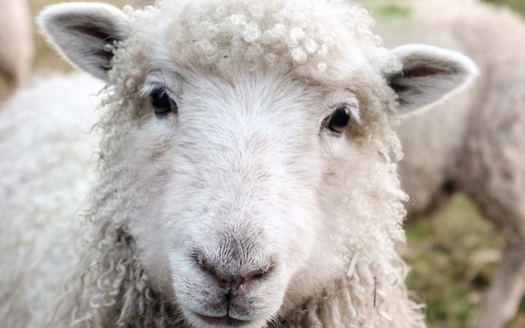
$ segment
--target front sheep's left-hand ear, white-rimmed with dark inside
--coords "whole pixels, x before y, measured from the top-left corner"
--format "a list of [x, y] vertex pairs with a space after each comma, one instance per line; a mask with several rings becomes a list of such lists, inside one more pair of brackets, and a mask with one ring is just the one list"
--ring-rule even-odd
[[62, 56], [103, 80], [111, 69], [111, 46], [127, 38], [130, 29], [127, 15], [101, 3], [51, 5], [38, 22]]

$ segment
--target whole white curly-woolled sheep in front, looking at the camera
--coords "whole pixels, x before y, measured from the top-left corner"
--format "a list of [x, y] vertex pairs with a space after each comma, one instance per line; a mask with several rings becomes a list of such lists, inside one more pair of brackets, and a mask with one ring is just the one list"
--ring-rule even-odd
[[[388, 50], [366, 10], [330, 0], [161, 1], [123, 11], [67, 3], [39, 22], [104, 86], [65, 77], [0, 111], [0, 149], [10, 154], [0, 172], [16, 171], [0, 174], [9, 186], [1, 322], [425, 326], [396, 251], [406, 195], [395, 128], [467, 86], [477, 74], [468, 57]], [[68, 94], [53, 99], [57, 92]], [[14, 133], [45, 114], [27, 98], [58, 102], [54, 113], [67, 123], [98, 100], [100, 136], [75, 137], [79, 153], [69, 156], [72, 132], [60, 136], [60, 115], [35, 135]], [[10, 119], [21, 109], [27, 122]], [[60, 165], [40, 165], [48, 156]], [[95, 177], [82, 173], [92, 157]], [[57, 185], [34, 186], [24, 163]]]

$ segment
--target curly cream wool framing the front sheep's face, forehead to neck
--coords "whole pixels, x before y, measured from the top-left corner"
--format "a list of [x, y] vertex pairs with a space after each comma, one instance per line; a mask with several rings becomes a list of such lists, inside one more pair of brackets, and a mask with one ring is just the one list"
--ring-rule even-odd
[[[116, 51], [111, 87], [101, 100], [101, 161], [88, 197], [91, 209], [81, 214], [86, 221], [79, 232], [78, 253], [82, 257], [72, 269], [68, 267], [63, 296], [34, 312], [31, 322], [48, 322], [55, 327], [185, 326], [178, 310], [170, 305], [174, 300], [162, 299], [151, 287], [129, 229], [129, 216], [147, 199], [136, 183], [140, 167], [133, 161], [128, 142], [142, 120], [138, 89], [144, 82], [143, 65], [147, 61], [139, 59], [160, 56], [153, 55], [161, 47], [152, 43], [153, 29], [159, 33], [158, 25], [153, 27], [152, 22], [173, 22], [160, 30], [176, 36], [169, 49], [170, 56], [176, 55], [177, 65], [224, 78], [240, 67], [289, 72], [293, 77], [332, 87], [342, 83], [348, 86], [351, 81], [348, 87], [360, 97], [362, 145], [355, 152], [341, 155], [339, 165], [332, 168], [338, 179], [322, 191], [323, 197], [335, 199], [337, 207], [344, 208], [344, 213], [334, 210], [335, 219], [327, 223], [327, 229], [341, 231], [334, 237], [341, 255], [339, 270], [322, 272], [331, 277], [330, 282], [318, 286], [305, 303], [286, 304], [276, 324], [424, 326], [421, 306], [409, 299], [404, 285], [406, 264], [395, 251], [395, 246], [404, 242], [401, 223], [405, 215], [402, 200], [406, 196], [395, 173], [401, 149], [390, 128], [395, 122], [383, 112], [384, 103], [393, 105], [394, 95], [384, 91], [387, 88], [380, 74], [385, 66], [380, 61], [384, 50], [369, 32], [369, 16], [362, 9], [338, 1], [265, 2], [269, 10], [262, 16], [256, 1], [235, 2], [224, 7], [220, 15], [207, 4], [180, 1], [174, 5], [164, 1], [158, 8], [129, 12], [133, 31]], [[186, 15], [200, 18], [185, 20]], [[233, 15], [239, 19], [232, 21]], [[285, 26], [287, 34], [279, 36], [282, 27], [278, 24]], [[326, 26], [324, 30], [322, 25]], [[211, 26], [217, 28], [215, 35], [209, 34]], [[268, 59], [273, 60], [270, 63]], [[349, 158], [360, 161], [346, 165]], [[352, 190], [363, 193], [341, 192]], [[28, 229], [31, 223], [26, 225]], [[49, 290], [50, 295], [56, 295], [56, 288]], [[13, 326], [17, 325], [23, 326]]]

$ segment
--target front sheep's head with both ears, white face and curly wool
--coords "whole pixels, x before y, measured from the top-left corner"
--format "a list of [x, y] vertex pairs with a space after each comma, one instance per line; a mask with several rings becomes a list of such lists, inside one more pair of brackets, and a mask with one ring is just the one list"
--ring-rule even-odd
[[[98, 219], [129, 232], [154, 290], [196, 327], [265, 326], [347, 273], [386, 298], [403, 279], [391, 126], [474, 64], [383, 49], [366, 12], [340, 2], [125, 11], [60, 4], [40, 24], [108, 83]], [[364, 294], [358, 316], [375, 307]]]

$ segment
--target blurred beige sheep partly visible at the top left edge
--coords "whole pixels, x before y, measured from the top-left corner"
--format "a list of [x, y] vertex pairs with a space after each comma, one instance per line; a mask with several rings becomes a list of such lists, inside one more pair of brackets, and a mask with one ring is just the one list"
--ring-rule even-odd
[[28, 82], [34, 45], [27, 1], [0, 1], [0, 100]]

